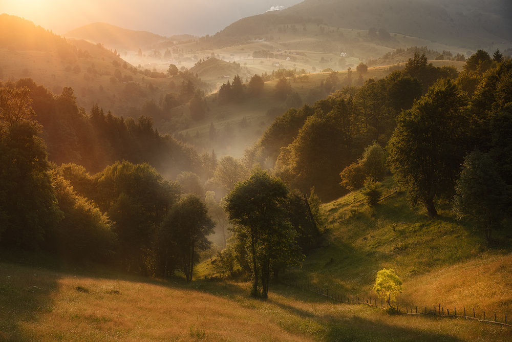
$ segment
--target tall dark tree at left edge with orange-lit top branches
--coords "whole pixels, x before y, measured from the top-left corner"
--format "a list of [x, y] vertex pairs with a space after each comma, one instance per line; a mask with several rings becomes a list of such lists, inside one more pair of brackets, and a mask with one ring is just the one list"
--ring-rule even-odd
[[40, 125], [30, 121], [26, 88], [0, 88], [0, 241], [39, 248], [61, 219]]

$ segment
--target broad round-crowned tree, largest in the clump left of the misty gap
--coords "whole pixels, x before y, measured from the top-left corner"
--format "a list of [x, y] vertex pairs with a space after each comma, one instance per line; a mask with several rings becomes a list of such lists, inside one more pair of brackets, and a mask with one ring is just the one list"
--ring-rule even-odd
[[147, 273], [148, 253], [158, 226], [175, 203], [179, 186], [148, 164], [116, 162], [97, 175], [96, 202], [114, 222], [120, 258], [127, 270]]

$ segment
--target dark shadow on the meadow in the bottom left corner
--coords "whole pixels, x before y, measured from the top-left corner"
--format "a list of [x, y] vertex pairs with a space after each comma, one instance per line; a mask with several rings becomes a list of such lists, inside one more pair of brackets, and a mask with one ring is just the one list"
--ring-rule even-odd
[[22, 325], [52, 311], [58, 279], [52, 271], [0, 263], [0, 341], [28, 339]]

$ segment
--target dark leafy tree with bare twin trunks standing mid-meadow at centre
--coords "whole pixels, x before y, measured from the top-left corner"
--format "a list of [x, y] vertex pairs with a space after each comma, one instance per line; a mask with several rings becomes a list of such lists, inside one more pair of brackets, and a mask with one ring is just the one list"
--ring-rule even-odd
[[281, 180], [259, 169], [226, 197], [233, 233], [245, 245], [251, 267], [253, 297], [268, 297], [274, 266], [296, 264], [302, 257], [296, 232], [287, 220], [287, 196], [288, 188]]

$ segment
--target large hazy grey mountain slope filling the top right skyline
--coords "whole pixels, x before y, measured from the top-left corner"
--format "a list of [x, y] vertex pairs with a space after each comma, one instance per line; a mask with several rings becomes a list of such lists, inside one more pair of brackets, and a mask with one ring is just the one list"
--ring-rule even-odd
[[478, 49], [512, 44], [510, 13], [512, 4], [506, 0], [306, 0], [283, 11], [241, 19], [218, 36], [272, 34], [267, 29], [271, 24], [316, 21], [340, 28], [385, 29]]

